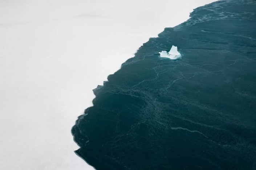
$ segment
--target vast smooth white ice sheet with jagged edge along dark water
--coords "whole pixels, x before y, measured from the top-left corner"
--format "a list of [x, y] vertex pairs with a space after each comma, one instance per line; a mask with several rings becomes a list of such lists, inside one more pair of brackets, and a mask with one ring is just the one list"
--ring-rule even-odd
[[[213, 1], [0, 1], [0, 169], [93, 169], [70, 133], [92, 89], [150, 37]], [[163, 4], [172, 10], [159, 12]]]

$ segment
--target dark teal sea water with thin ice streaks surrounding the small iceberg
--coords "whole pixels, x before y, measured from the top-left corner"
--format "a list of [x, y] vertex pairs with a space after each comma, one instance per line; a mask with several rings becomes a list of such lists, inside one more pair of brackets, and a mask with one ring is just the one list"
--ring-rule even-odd
[[[218, 1], [150, 38], [94, 89], [78, 156], [98, 170], [255, 170], [255, 12]], [[182, 58], [160, 58], [172, 45]]]

